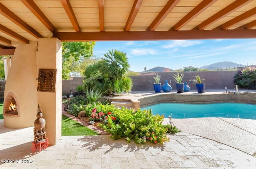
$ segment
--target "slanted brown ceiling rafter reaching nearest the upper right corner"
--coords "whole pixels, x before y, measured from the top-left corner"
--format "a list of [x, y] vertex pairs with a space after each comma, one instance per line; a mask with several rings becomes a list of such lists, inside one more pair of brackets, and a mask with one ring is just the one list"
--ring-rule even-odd
[[205, 20], [204, 22], [199, 24], [194, 29], [203, 30], [203, 29], [207, 28], [208, 26], [210, 26], [212, 23], [220, 20], [221, 18], [224, 18], [228, 14], [231, 14], [235, 10], [241, 8], [242, 6], [248, 4], [249, 2], [252, 2], [252, 1], [253, 0], [236, 0], [232, 4], [226, 6], [226, 8], [220, 10], [219, 12], [217, 12], [216, 14], [214, 14], [213, 16], [211, 16], [210, 18], [208, 18], [207, 20]]

